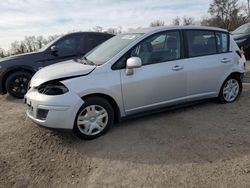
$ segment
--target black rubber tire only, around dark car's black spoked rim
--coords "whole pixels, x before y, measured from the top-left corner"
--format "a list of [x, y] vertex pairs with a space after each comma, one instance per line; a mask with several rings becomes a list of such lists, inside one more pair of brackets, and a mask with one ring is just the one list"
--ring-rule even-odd
[[[17, 77], [20, 77], [20, 76], [24, 76], [26, 77], [28, 80], [30, 80], [32, 78], [32, 74], [28, 73], [28, 72], [15, 72], [15, 73], [12, 73], [11, 75], [8, 76], [8, 78], [6, 79], [6, 82], [5, 82], [5, 88], [6, 88], [6, 91], [13, 97], [15, 98], [19, 98], [19, 99], [22, 99], [25, 95], [24, 94], [20, 94], [20, 93], [16, 93], [16, 92], [13, 92], [11, 89], [10, 89], [10, 84], [11, 82], [17, 78]], [[27, 88], [28, 89], [28, 88]]]

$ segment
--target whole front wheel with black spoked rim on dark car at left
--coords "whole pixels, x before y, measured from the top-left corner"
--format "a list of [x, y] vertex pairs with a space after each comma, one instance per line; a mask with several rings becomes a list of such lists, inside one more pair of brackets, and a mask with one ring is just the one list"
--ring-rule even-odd
[[28, 72], [19, 71], [12, 73], [5, 82], [7, 92], [15, 98], [22, 99], [27, 93], [28, 84], [31, 78], [32, 74]]

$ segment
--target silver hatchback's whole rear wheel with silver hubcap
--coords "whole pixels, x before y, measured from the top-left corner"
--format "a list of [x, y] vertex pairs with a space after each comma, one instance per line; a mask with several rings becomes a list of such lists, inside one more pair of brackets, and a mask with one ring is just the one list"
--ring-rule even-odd
[[221, 86], [218, 96], [219, 102], [232, 103], [238, 99], [242, 92], [242, 81], [238, 75], [229, 76]]

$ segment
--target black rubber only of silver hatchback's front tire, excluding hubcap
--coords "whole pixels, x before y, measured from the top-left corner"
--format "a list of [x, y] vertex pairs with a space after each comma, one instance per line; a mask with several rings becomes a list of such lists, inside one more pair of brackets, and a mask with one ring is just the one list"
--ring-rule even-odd
[[[84, 100], [84, 104], [80, 107], [80, 109], [78, 110], [76, 117], [75, 117], [73, 133], [81, 139], [92, 140], [94, 138], [97, 138], [97, 137], [105, 134], [110, 129], [110, 127], [113, 125], [113, 123], [114, 123], [114, 109], [106, 99], [101, 98], [101, 97], [89, 97], [89, 98], [85, 98], [83, 100]], [[106, 127], [100, 133], [98, 133], [96, 135], [83, 134], [77, 126], [77, 118], [78, 118], [80, 112], [89, 105], [99, 105], [99, 106], [105, 108], [105, 110], [108, 113], [108, 123], [107, 123]]]

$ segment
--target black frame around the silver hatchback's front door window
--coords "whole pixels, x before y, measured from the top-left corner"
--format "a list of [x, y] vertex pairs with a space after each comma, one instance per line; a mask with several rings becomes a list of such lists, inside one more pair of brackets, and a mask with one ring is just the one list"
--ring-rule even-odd
[[[184, 57], [184, 40], [183, 40], [183, 30], [182, 29], [173, 29], [173, 30], [166, 30], [166, 31], [161, 31], [158, 33], [155, 33], [153, 35], [148, 36], [147, 38], [143, 39], [142, 41], [138, 42], [137, 44], [135, 44], [133, 47], [131, 47], [126, 53], [124, 53], [112, 66], [111, 69], [112, 70], [120, 70], [120, 69], [125, 69], [126, 67], [121, 66], [121, 67], [116, 67], [116, 65], [118, 64], [119, 61], [121, 61], [123, 58], [125, 58], [125, 56], [128, 56], [129, 53], [131, 53], [131, 51], [137, 47], [138, 45], [140, 45], [141, 43], [145, 42], [148, 38], [156, 36], [156, 35], [160, 35], [160, 34], [167, 34], [169, 32], [178, 32], [179, 33], [179, 37], [180, 37], [180, 58], [177, 59], [171, 59], [171, 60], [167, 60], [167, 61], [163, 61], [163, 62], [157, 62], [157, 63], [150, 63], [150, 64], [146, 64], [146, 65], [142, 65], [142, 66], [147, 66], [147, 65], [152, 65], [152, 64], [158, 64], [158, 63], [166, 63], [166, 62], [171, 62], [171, 61], [176, 61], [176, 60], [180, 60], [185, 58]], [[127, 59], [127, 57], [126, 57]]]

